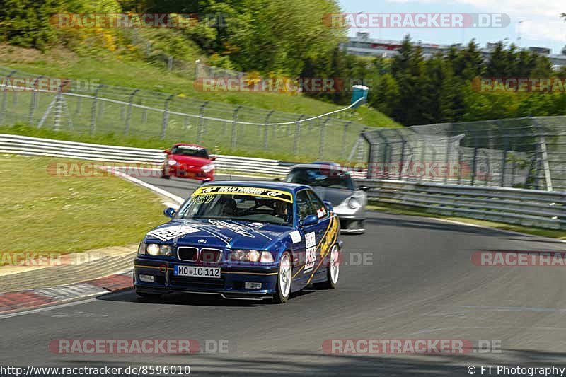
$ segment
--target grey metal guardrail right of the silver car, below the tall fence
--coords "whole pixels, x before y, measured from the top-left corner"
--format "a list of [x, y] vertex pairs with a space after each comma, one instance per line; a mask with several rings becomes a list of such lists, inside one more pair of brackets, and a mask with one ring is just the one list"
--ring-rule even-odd
[[427, 212], [523, 226], [566, 230], [566, 192], [509, 187], [439, 185], [400, 180], [359, 180], [370, 200]]

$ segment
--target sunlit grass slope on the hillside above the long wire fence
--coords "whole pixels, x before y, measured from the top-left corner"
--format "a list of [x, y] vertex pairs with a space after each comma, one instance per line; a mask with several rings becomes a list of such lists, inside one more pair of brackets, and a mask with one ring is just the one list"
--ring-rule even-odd
[[[112, 54], [101, 57], [79, 57], [63, 49], [50, 50], [44, 54], [37, 50], [0, 45], [0, 65], [37, 75], [88, 79], [112, 86], [141, 88], [184, 95], [196, 100], [210, 100], [296, 114], [320, 115], [343, 107], [308, 98], [305, 95], [287, 93], [203, 92], [193, 85], [190, 72], [168, 71], [143, 60]], [[343, 120], [359, 122], [369, 127], [401, 127], [391, 118], [367, 106], [341, 116]]]

